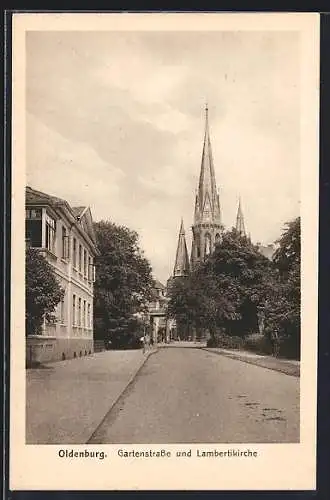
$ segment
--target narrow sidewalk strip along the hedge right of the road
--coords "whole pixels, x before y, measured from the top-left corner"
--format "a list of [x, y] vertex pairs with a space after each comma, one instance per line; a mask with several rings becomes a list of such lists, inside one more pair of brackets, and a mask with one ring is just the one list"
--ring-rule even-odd
[[211, 348], [204, 347], [206, 351], [214, 352], [215, 354], [221, 354], [223, 356], [228, 356], [232, 359], [237, 359], [239, 361], [244, 361], [245, 363], [251, 363], [253, 365], [262, 366], [263, 368], [269, 368], [270, 370], [275, 370], [278, 372], [285, 373], [286, 375], [292, 375], [294, 377], [300, 376], [300, 362], [275, 358], [273, 356], [262, 356], [260, 354], [255, 354], [250, 351], [236, 351], [230, 349], [221, 348]]

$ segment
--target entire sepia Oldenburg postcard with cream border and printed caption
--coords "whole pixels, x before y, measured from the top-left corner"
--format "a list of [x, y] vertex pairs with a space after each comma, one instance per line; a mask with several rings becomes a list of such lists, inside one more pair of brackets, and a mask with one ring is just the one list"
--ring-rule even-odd
[[10, 489], [315, 489], [319, 22], [13, 15]]

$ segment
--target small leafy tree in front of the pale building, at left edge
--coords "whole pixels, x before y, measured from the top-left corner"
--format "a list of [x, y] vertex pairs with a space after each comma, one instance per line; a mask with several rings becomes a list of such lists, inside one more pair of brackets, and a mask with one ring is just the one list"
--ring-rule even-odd
[[44, 319], [54, 321], [55, 308], [64, 296], [52, 266], [40, 251], [28, 247], [25, 254], [26, 335], [41, 333]]

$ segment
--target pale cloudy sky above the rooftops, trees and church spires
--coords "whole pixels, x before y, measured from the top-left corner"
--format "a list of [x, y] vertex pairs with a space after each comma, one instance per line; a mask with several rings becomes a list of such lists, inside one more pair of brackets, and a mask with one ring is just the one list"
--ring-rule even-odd
[[27, 184], [136, 230], [154, 276], [188, 251], [205, 104], [226, 228], [241, 196], [254, 242], [300, 204], [297, 32], [31, 31]]

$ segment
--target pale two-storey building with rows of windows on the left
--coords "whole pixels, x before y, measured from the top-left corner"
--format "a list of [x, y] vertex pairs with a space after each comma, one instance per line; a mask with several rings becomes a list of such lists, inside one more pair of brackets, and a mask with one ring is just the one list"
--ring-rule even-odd
[[40, 250], [51, 264], [64, 298], [56, 321], [44, 321], [40, 335], [27, 332], [30, 362], [47, 362], [93, 353], [93, 287], [98, 255], [89, 207], [26, 188], [27, 245]]

